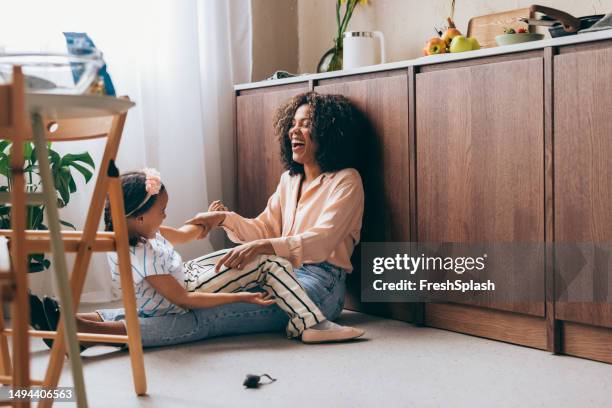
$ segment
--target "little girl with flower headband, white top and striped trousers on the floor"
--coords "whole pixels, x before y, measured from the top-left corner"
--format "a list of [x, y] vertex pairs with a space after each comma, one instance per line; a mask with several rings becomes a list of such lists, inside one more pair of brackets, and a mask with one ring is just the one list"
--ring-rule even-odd
[[[162, 226], [168, 192], [156, 170], [123, 174], [121, 184], [139, 317], [184, 313], [185, 309], [234, 302], [264, 306], [276, 303], [289, 316], [288, 337], [318, 343], [349, 340], [363, 334], [361, 330], [328, 322], [298, 283], [291, 263], [284, 258], [259, 255], [241, 269], [221, 268], [217, 272], [215, 264], [227, 252], [222, 250], [183, 264], [174, 245], [202, 238], [216, 225], [184, 225], [178, 229]], [[104, 220], [106, 230], [112, 231], [108, 202]], [[109, 253], [108, 260], [112, 278], [117, 281], [117, 254]], [[267, 295], [246, 291], [254, 287], [263, 288]], [[54, 330], [59, 309], [50, 307], [46, 300], [46, 317], [49, 328]], [[79, 313], [79, 331], [125, 334], [123, 321], [114, 321], [112, 316], [103, 313]]]

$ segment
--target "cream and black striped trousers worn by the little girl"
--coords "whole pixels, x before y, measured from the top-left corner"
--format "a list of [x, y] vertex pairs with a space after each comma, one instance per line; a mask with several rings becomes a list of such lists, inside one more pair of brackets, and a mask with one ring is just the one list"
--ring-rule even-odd
[[276, 304], [289, 315], [287, 336], [297, 337], [304, 330], [325, 320], [296, 279], [291, 263], [275, 255], [258, 255], [242, 269], [215, 264], [229, 249], [185, 262], [185, 287], [190, 292], [231, 293], [260, 287], [274, 296]]

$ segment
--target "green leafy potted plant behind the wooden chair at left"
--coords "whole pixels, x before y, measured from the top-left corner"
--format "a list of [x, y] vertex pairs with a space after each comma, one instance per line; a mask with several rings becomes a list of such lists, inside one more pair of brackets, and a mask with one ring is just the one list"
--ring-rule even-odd
[[[0, 175], [5, 179], [0, 183], [0, 191], [10, 192], [11, 190], [11, 174], [10, 174], [10, 145], [7, 140], [0, 140]], [[88, 152], [72, 154], [68, 153], [61, 156], [55, 150], [51, 149], [51, 143], [47, 145], [49, 149], [49, 162], [51, 164], [51, 174], [53, 182], [57, 190], [57, 203], [59, 208], [65, 207], [70, 201], [70, 195], [77, 191], [77, 186], [72, 176], [72, 170], [81, 173], [85, 178], [85, 183], [88, 183], [93, 176], [95, 164]], [[41, 188], [40, 173], [36, 159], [36, 151], [31, 142], [24, 144], [24, 159], [26, 175], [26, 192], [33, 193]], [[32, 230], [46, 230], [47, 226], [43, 223], [44, 217], [43, 205], [29, 205], [26, 211], [26, 228]], [[65, 220], [60, 220], [60, 223], [72, 229], [76, 229], [74, 225]], [[0, 229], [11, 228], [11, 211], [10, 206], [0, 204]], [[49, 268], [51, 262], [45, 258], [45, 254], [29, 254], [28, 263], [30, 272], [40, 272]]]

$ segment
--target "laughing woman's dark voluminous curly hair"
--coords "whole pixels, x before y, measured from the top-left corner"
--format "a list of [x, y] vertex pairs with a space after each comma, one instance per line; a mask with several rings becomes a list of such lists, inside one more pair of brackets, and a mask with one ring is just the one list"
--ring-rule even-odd
[[281, 158], [289, 174], [304, 174], [304, 166], [293, 161], [291, 140], [288, 137], [295, 112], [302, 105], [310, 106], [310, 135], [318, 146], [315, 159], [321, 171], [325, 173], [356, 167], [359, 130], [355, 107], [342, 95], [305, 92], [278, 108], [274, 118]]

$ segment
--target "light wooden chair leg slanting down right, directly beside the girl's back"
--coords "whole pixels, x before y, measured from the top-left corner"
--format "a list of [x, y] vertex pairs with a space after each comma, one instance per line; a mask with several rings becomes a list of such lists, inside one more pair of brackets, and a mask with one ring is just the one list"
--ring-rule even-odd
[[[114, 164], [113, 164], [114, 166]], [[116, 177], [111, 177], [109, 185], [109, 199], [111, 215], [113, 218], [113, 229], [117, 246], [117, 260], [119, 263], [119, 276], [121, 279], [121, 291], [123, 292], [123, 304], [125, 308], [125, 322], [128, 335], [128, 347], [132, 361], [132, 376], [136, 394], [143, 395], [147, 392], [147, 380], [144, 369], [144, 356], [142, 352], [142, 339], [140, 336], [140, 325], [136, 311], [136, 297], [134, 295], [134, 280], [132, 277], [132, 265], [130, 261], [130, 249], [128, 242], [127, 223], [123, 204], [123, 191], [121, 181], [116, 171]]]

